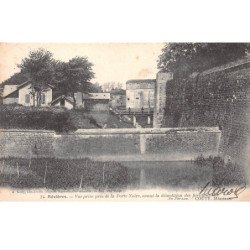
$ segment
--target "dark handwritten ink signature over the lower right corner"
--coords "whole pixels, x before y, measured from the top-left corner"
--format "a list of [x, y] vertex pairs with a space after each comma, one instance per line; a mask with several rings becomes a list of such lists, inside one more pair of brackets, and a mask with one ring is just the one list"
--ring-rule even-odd
[[246, 183], [238, 185], [236, 187], [223, 187], [223, 186], [212, 186], [211, 182], [208, 182], [200, 191], [199, 195], [208, 195], [208, 196], [224, 196], [229, 197], [230, 199], [238, 198], [246, 189]]

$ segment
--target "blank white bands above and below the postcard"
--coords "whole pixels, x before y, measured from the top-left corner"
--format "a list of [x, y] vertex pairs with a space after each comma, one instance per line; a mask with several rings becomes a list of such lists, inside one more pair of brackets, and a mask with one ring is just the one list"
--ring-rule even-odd
[[[247, 1], [8, 0], [0, 8], [1, 42], [250, 41]], [[249, 211], [237, 202], [1, 203], [1, 249], [242, 249]]]

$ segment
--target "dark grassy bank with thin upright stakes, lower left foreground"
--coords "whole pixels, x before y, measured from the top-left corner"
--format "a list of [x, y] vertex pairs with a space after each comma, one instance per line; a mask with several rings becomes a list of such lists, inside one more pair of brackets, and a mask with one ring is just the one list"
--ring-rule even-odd
[[5, 158], [0, 166], [0, 185], [13, 188], [120, 191], [128, 184], [127, 168], [117, 162]]

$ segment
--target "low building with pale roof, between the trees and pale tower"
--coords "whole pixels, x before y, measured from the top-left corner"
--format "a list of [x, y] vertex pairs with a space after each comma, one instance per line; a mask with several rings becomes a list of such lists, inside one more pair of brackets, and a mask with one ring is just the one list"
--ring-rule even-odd
[[109, 111], [110, 93], [75, 93], [76, 108], [87, 111]]

